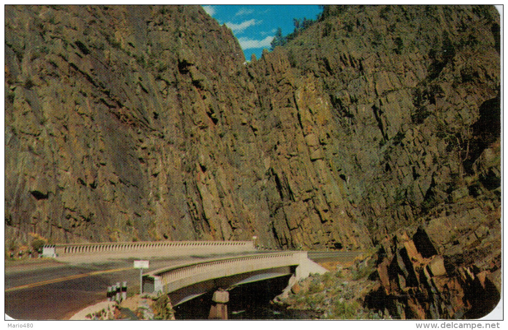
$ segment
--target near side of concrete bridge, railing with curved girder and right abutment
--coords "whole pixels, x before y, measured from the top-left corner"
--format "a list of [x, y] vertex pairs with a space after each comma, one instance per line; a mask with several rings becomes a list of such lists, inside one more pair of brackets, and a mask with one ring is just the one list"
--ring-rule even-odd
[[143, 292], [168, 294], [173, 306], [205, 294], [216, 288], [230, 288], [240, 284], [292, 275], [291, 286], [311, 273], [327, 270], [307, 258], [306, 251], [279, 251], [218, 258], [167, 267], [143, 276]]

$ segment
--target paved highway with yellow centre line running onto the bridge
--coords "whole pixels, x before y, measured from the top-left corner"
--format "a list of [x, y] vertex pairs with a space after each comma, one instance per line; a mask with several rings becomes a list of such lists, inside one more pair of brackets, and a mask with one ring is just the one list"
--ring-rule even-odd
[[[357, 254], [356, 251], [309, 252], [309, 258], [317, 262], [346, 262]], [[214, 258], [147, 258], [150, 268], [143, 272]], [[107, 260], [93, 256], [66, 261], [65, 264], [48, 262], [7, 267], [5, 313], [24, 320], [68, 319], [79, 310], [105, 300], [107, 287], [116, 282], [127, 281], [128, 287], [139, 289], [139, 269], [133, 269], [134, 259]]]

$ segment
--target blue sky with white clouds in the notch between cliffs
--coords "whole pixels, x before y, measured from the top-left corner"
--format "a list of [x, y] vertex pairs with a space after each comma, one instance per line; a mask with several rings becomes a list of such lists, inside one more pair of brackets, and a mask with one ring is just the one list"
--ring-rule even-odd
[[251, 54], [261, 58], [263, 48], [270, 49], [277, 27], [286, 35], [295, 28], [293, 18], [315, 19], [321, 12], [317, 5], [204, 5], [203, 9], [233, 31], [247, 60]]

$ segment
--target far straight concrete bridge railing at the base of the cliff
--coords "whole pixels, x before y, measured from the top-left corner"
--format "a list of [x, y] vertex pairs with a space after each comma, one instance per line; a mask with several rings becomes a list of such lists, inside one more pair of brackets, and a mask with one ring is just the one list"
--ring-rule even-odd
[[[154, 255], [234, 253], [255, 251], [252, 241], [166, 241], [53, 244], [43, 247], [44, 256], [73, 256], [97, 253], [150, 252]], [[46, 253], [45, 253], [46, 252]]]

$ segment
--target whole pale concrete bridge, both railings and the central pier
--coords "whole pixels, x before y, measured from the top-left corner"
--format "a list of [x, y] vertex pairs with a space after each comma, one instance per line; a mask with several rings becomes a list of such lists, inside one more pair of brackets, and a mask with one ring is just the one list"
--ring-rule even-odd
[[[217, 290], [210, 311], [211, 318], [227, 318], [226, 303], [234, 286], [288, 276], [287, 295], [298, 280], [311, 273], [327, 270], [308, 258], [306, 251], [260, 252], [253, 241], [164, 241], [164, 242], [110, 242], [45, 245], [43, 256], [58, 260], [90, 260], [152, 258], [158, 256], [208, 256], [206, 260], [180, 260], [178, 265], [151, 271], [143, 276], [143, 292], [151, 295], [167, 294], [173, 306], [182, 304]], [[175, 262], [176, 261], [172, 261]], [[226, 289], [226, 290], [224, 290]], [[276, 295], [277, 292], [274, 292]]]

